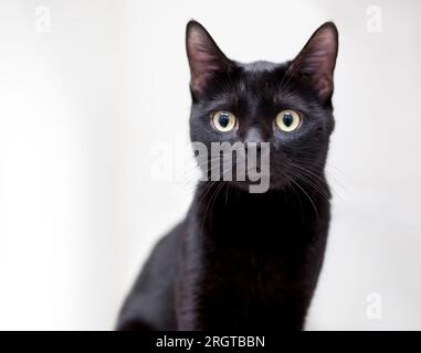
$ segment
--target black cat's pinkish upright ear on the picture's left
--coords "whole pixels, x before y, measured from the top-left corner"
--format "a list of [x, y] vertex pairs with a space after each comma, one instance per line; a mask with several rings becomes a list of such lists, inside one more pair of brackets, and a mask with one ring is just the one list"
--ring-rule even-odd
[[232, 66], [232, 62], [221, 52], [208, 31], [194, 20], [187, 24], [186, 49], [190, 65], [190, 87], [196, 93], [200, 93], [215, 73]]

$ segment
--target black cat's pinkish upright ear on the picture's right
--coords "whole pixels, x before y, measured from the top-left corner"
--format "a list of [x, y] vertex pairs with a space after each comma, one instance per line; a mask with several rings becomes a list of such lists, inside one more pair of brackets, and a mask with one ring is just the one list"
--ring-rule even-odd
[[323, 101], [334, 92], [334, 69], [338, 53], [338, 31], [333, 22], [322, 24], [290, 64], [288, 73], [309, 81]]

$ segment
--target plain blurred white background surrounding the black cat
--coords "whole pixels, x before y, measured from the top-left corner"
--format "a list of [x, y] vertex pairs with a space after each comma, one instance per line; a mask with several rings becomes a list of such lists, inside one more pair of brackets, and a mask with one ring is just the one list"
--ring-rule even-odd
[[[379, 33], [367, 28], [372, 4]], [[183, 216], [193, 179], [159, 181], [150, 169], [152, 146], [187, 141], [191, 18], [245, 62], [292, 58], [336, 22], [334, 216], [307, 328], [421, 329], [420, 10], [415, 0], [2, 0], [0, 329], [112, 329], [151, 246]], [[372, 292], [381, 320], [367, 317]]]

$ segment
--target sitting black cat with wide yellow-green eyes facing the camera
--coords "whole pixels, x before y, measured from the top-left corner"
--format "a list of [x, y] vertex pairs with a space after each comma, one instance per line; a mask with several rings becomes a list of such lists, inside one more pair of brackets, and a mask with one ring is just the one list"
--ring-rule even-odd
[[[118, 330], [303, 329], [330, 218], [324, 168], [337, 49], [327, 22], [291, 62], [242, 64], [188, 23], [191, 140], [254, 142], [257, 152], [269, 142], [270, 186], [200, 181], [186, 220], [136, 280]], [[204, 173], [211, 159], [199, 163]]]

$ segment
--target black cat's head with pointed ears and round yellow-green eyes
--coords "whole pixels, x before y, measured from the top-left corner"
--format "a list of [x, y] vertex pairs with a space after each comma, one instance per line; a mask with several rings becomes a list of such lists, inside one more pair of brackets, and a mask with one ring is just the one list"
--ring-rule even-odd
[[208, 176], [211, 161], [222, 163], [222, 154], [212, 152], [211, 145], [223, 142], [245, 146], [244, 153], [236, 151], [231, 167], [221, 165], [218, 171], [222, 178], [231, 168], [232, 184], [239, 188], [252, 182], [235, 175], [239, 161], [248, 160], [248, 146], [256, 148], [257, 172], [261, 147], [269, 148], [271, 189], [324, 175], [335, 125], [331, 96], [338, 32], [334, 23], [319, 26], [298, 55], [285, 63], [230, 60], [196, 21], [187, 25], [186, 45], [191, 74], [190, 137], [207, 147], [207, 157], [198, 161]]

